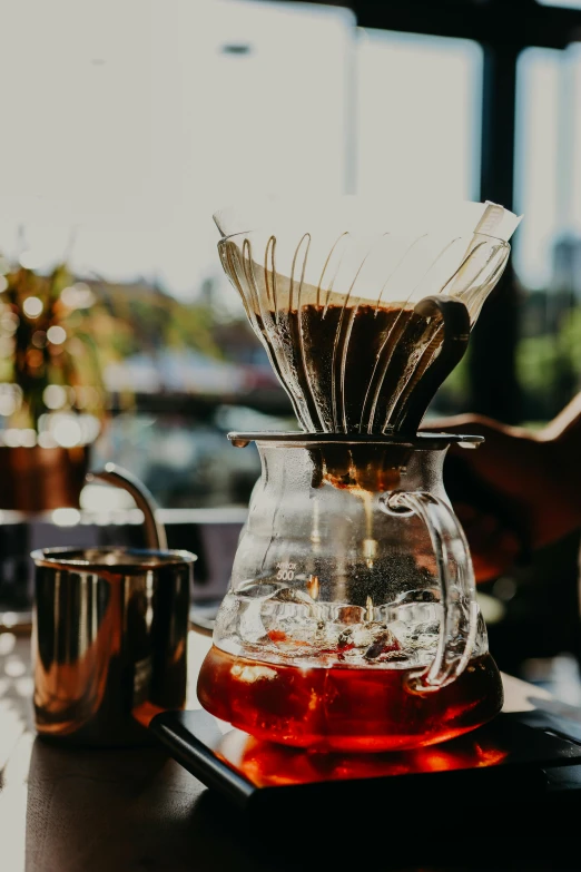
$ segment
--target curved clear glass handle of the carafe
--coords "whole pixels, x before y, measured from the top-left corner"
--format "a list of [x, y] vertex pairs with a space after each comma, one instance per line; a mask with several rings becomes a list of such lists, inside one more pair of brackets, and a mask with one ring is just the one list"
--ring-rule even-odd
[[437, 690], [465, 669], [481, 620], [466, 537], [447, 502], [433, 493], [393, 491], [383, 504], [388, 513], [417, 515], [432, 540], [441, 589], [440, 640], [432, 664], [414, 673], [410, 684], [420, 693]]

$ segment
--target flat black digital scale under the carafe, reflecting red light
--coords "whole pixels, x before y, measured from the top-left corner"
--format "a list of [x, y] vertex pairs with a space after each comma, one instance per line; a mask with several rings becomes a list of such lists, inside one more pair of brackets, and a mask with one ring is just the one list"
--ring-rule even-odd
[[545, 712], [501, 713], [464, 736], [417, 751], [358, 755], [258, 742], [204, 709], [165, 712], [149, 728], [188, 772], [239, 810], [278, 812], [296, 802], [316, 810], [329, 795], [334, 802], [364, 796], [373, 806], [386, 791], [404, 804], [418, 792], [425, 802], [445, 803], [466, 791], [474, 809], [499, 798], [538, 803], [567, 780], [578, 784], [581, 801], [581, 725], [577, 736], [568, 734], [562, 719]]

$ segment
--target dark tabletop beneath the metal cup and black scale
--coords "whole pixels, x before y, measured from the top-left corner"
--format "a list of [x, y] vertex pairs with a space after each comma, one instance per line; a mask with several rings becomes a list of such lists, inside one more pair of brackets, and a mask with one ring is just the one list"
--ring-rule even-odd
[[[208, 645], [207, 637], [190, 634], [190, 708], [199, 707], [195, 679]], [[1, 872], [418, 869], [412, 850], [408, 865], [391, 861], [398, 837], [397, 829], [390, 826], [390, 807], [396, 796], [385, 797], [383, 832], [349, 827], [348, 807], [335, 810], [335, 827], [319, 826], [297, 807], [292, 820], [269, 826], [268, 837], [263, 840], [252, 834], [234, 806], [208, 791], [161, 747], [88, 751], [48, 745], [33, 731], [29, 650], [28, 637], [0, 634]], [[503, 680], [506, 711], [562, 711], [546, 692], [509, 676]], [[581, 711], [567, 709], [567, 716], [577, 718], [581, 729]], [[470, 796], [459, 797], [462, 805], [470, 802]], [[534, 865], [530, 851], [521, 849], [531, 840], [535, 844], [540, 833], [506, 824], [505, 812], [491, 809], [489, 819], [481, 814], [474, 817], [470, 832], [457, 832], [453, 810], [425, 809], [421, 797], [417, 807], [410, 809], [417, 820], [418, 837], [440, 844], [444, 840], [450, 845], [449, 860], [440, 863], [440, 870], [581, 870], [578, 832], [568, 834], [572, 850], [579, 840], [579, 860], [573, 856], [573, 865], [557, 858], [542, 861], [541, 853], [540, 865]], [[496, 860], [486, 864], [481, 846], [495, 839], [498, 831], [505, 839], [506, 830], [514, 836], [512, 847], [499, 847]], [[562, 837], [563, 833], [549, 834], [549, 844], [561, 845]], [[528, 859], [519, 866], [521, 853]], [[422, 865], [422, 870], [427, 868], [435, 865]]]

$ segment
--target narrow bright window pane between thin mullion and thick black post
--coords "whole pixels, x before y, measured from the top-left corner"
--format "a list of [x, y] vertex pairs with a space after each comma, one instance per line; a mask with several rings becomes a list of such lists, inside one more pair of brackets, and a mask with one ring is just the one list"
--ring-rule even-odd
[[360, 32], [360, 193], [477, 198], [481, 47], [462, 39]]

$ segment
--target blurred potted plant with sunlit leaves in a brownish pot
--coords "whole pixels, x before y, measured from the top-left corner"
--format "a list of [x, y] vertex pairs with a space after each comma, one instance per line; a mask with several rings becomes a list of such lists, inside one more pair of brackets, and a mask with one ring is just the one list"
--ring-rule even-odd
[[0, 509], [79, 506], [107, 417], [97, 344], [76, 329], [93, 302], [63, 263], [40, 275], [0, 258]]

